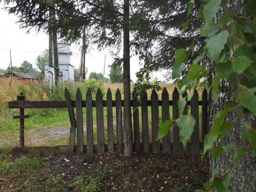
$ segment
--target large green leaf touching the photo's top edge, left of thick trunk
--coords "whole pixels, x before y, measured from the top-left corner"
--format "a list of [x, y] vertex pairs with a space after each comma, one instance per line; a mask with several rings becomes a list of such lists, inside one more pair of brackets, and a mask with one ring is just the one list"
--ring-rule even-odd
[[211, 22], [211, 20], [215, 18], [216, 13], [219, 11], [220, 4], [221, 0], [211, 0], [208, 4], [204, 6], [204, 17], [206, 27]]

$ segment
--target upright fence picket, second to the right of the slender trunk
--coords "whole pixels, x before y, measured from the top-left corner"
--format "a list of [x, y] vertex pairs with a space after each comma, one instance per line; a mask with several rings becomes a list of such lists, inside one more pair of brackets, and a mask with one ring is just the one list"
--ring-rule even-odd
[[149, 133], [148, 133], [148, 95], [144, 92], [143, 103], [141, 106], [141, 119], [142, 119], [142, 143], [143, 152], [149, 152]]

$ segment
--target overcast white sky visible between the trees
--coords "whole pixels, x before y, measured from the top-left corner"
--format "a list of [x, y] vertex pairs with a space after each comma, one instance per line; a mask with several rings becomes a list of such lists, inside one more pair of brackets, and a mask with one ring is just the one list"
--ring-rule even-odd
[[[13, 66], [20, 66], [23, 61], [28, 61], [36, 67], [35, 61], [37, 56], [41, 54], [46, 48], [48, 48], [48, 35], [43, 31], [37, 33], [36, 31], [30, 31], [29, 34], [26, 33], [26, 29], [20, 29], [19, 24], [16, 24], [18, 18], [13, 14], [8, 14], [7, 11], [2, 9], [4, 6], [0, 4], [0, 68], [7, 69], [10, 64], [10, 50], [11, 50], [11, 60]], [[82, 43], [81, 43], [82, 44]], [[79, 68], [80, 64], [80, 46], [76, 44], [71, 45], [71, 51], [73, 55], [71, 56], [71, 65], [75, 68]], [[105, 67], [105, 77], [108, 77], [109, 68], [113, 58], [109, 53], [109, 50], [98, 52], [95, 50], [90, 50], [90, 52], [85, 55], [85, 66], [88, 68], [87, 78], [91, 72], [102, 73], [104, 72], [104, 57], [106, 55], [106, 67]], [[121, 55], [122, 56], [122, 55]], [[131, 57], [130, 60], [131, 69], [131, 79], [135, 81], [135, 73], [139, 71], [139, 59], [137, 57]], [[163, 73], [154, 73], [159, 80], [163, 81]]]

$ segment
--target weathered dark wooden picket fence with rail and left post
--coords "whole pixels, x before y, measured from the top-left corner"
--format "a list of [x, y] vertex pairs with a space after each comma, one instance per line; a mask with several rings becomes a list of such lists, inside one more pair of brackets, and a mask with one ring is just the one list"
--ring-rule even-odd
[[[186, 97], [187, 92], [182, 94], [182, 97]], [[20, 98], [20, 96], [17, 96]], [[86, 100], [82, 101], [82, 94], [78, 88], [76, 92], [76, 100], [72, 101], [69, 91], [65, 90], [66, 101], [25, 101], [17, 100], [8, 103], [9, 109], [23, 110], [23, 116], [19, 116], [23, 120], [23, 125], [20, 126], [20, 138], [23, 137], [24, 146], [24, 108], [68, 108], [69, 118], [70, 118], [70, 138], [69, 138], [69, 153], [73, 152], [86, 152], [86, 153], [104, 153], [118, 151], [123, 152], [123, 129], [122, 129], [122, 107], [123, 100], [121, 100], [121, 93], [119, 89], [115, 94], [115, 100], [112, 100], [112, 93], [110, 89], [107, 92], [107, 100], [103, 100], [103, 95], [100, 89], [96, 93], [96, 100], [92, 100], [92, 94], [90, 89], [87, 90]], [[139, 108], [138, 104], [131, 100], [131, 106], [133, 111], [133, 131], [134, 131], [134, 151], [143, 151], [148, 153], [152, 151], [153, 153], [171, 153], [171, 150], [175, 153], [176, 151], [183, 149], [183, 144], [180, 142], [180, 127], [175, 125], [173, 127], [173, 140], [171, 141], [170, 131], [163, 137], [163, 142], [160, 140], [156, 141], [158, 135], [158, 124], [159, 124], [159, 106], [162, 107], [161, 115], [162, 122], [170, 119], [169, 106], [173, 106], [173, 117], [171, 119], [177, 119], [180, 117], [178, 110], [178, 100], [179, 92], [177, 88], [173, 91], [173, 100], [169, 101], [169, 93], [164, 88], [161, 100], [158, 100], [158, 94], [155, 90], [152, 91], [151, 100], [147, 98], [147, 92], [145, 92], [145, 97], [143, 98], [143, 103], [141, 105], [141, 120], [142, 120], [142, 143], [140, 143], [140, 127], [139, 127]], [[191, 102], [188, 101], [183, 114], [187, 114], [187, 107], [190, 105], [191, 115], [195, 118], [196, 124], [194, 126], [194, 131], [191, 136], [191, 142], [187, 142], [187, 146], [183, 149], [184, 153], [195, 154], [199, 153], [199, 150], [203, 146], [203, 140], [207, 134], [207, 123], [208, 123], [208, 93], [204, 89], [202, 93], [202, 101], [198, 101], [198, 93], [195, 90], [194, 96]], [[199, 105], [202, 105], [202, 143], [199, 142]], [[151, 116], [152, 116], [152, 144], [149, 140], [149, 125], [148, 125], [148, 107], [151, 106]], [[74, 107], [76, 108], [76, 116], [74, 114]], [[82, 109], [86, 108], [86, 127], [87, 127], [87, 144], [83, 143], [83, 114]], [[97, 131], [97, 144], [93, 141], [93, 107], [96, 107], [96, 131]], [[107, 107], [107, 144], [104, 137], [104, 114], [103, 107]], [[117, 131], [117, 143], [114, 143], [114, 129], [113, 129], [113, 107], [116, 109], [116, 131]], [[23, 119], [22, 119], [23, 118]], [[22, 123], [22, 121], [20, 122]], [[23, 127], [22, 127], [23, 126]], [[77, 137], [77, 146], [75, 146], [75, 138]], [[22, 141], [20, 141], [22, 145]]]

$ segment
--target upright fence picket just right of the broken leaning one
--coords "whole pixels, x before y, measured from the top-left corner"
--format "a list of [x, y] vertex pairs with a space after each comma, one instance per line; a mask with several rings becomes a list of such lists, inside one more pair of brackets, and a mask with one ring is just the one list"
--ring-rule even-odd
[[77, 131], [77, 150], [83, 153], [83, 108], [82, 93], [78, 87], [76, 91], [76, 131]]

